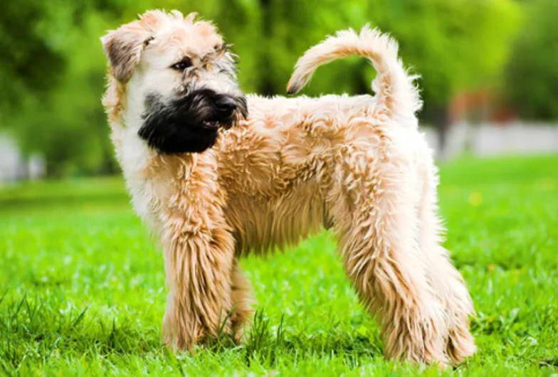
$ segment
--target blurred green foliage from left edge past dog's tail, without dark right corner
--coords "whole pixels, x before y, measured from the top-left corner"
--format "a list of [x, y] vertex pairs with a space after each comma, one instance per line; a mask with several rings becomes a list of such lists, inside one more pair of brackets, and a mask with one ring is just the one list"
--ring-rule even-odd
[[[456, 91], [498, 80], [520, 10], [512, 0], [9, 1], [0, 12], [0, 127], [24, 152], [43, 154], [49, 175], [117, 170], [99, 38], [155, 7], [214, 20], [240, 57], [241, 87], [268, 95], [285, 94], [297, 58], [326, 35], [379, 26], [423, 76], [427, 122]], [[347, 59], [321, 68], [305, 93], [369, 92], [373, 77], [365, 60]]]

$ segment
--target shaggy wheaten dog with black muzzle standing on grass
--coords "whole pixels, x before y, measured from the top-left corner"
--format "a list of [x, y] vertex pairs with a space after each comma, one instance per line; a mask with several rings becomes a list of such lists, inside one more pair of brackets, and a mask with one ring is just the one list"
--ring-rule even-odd
[[316, 98], [245, 95], [235, 55], [196, 14], [147, 11], [101, 41], [116, 156], [164, 252], [168, 346], [223, 331], [241, 341], [253, 298], [238, 258], [331, 228], [386, 357], [448, 366], [475, 352], [473, 304], [441, 246], [416, 77], [393, 39], [364, 26], [310, 48], [290, 94], [344, 56], [377, 70], [374, 96]]

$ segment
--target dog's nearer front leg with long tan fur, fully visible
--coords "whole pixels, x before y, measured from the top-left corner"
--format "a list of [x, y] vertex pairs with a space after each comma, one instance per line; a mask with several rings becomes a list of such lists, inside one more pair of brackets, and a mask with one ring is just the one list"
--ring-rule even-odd
[[231, 331], [233, 237], [219, 208], [169, 210], [162, 234], [169, 297], [163, 340], [172, 349]]

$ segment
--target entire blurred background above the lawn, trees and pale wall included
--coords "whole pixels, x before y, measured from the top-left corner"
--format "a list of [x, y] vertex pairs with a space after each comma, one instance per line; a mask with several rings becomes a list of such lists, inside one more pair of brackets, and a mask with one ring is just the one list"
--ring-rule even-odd
[[[557, 0], [26, 0], [0, 5], [0, 182], [116, 174], [100, 103], [99, 38], [147, 9], [198, 11], [240, 57], [246, 92], [284, 95], [297, 58], [371, 23], [421, 75], [419, 115], [439, 158], [558, 152]], [[332, 63], [307, 95], [367, 93], [362, 58]]]

